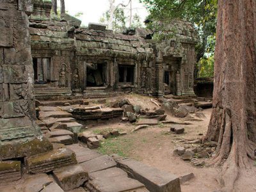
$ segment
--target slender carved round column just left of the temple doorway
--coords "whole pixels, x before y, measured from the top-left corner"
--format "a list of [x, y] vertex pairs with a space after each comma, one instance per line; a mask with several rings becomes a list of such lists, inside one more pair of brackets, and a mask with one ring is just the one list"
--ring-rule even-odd
[[158, 52], [156, 58], [156, 93], [158, 97], [163, 97], [163, 55], [162, 52]]

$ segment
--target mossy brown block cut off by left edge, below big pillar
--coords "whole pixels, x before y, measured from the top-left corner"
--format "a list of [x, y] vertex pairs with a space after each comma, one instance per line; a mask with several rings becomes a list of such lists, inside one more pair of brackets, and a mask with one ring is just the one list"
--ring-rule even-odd
[[0, 161], [0, 185], [21, 178], [20, 161]]

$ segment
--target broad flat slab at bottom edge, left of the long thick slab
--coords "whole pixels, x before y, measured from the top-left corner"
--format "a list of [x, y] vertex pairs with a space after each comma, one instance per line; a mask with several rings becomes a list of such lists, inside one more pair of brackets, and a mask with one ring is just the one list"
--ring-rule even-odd
[[127, 173], [120, 168], [89, 173], [89, 177], [86, 187], [90, 191], [148, 191], [141, 182], [127, 177]]

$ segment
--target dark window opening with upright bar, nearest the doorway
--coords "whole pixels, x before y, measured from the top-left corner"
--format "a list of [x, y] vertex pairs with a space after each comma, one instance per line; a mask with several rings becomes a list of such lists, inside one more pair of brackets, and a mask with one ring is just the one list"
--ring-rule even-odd
[[118, 67], [118, 83], [133, 84], [134, 83], [134, 66], [119, 65]]

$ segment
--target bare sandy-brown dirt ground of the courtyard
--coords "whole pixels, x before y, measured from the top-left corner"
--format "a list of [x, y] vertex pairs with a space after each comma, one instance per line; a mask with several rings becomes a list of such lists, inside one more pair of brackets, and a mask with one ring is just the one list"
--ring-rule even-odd
[[[128, 95], [127, 98], [132, 104], [141, 105], [143, 108], [156, 108], [156, 105], [150, 102], [148, 97]], [[211, 111], [211, 109], [204, 110], [204, 115], [206, 116], [204, 120], [193, 121], [191, 122], [192, 125], [184, 125], [185, 132], [180, 135], [170, 132], [172, 124], [158, 124], [131, 132], [136, 127], [136, 124], [122, 122], [118, 119], [104, 122], [104, 124], [88, 125], [88, 131], [99, 133], [106, 129], [118, 129], [119, 131], [127, 132], [124, 136], [103, 141], [102, 147], [98, 150], [104, 154], [119, 154], [120, 156], [131, 157], [178, 176], [194, 173], [194, 179], [181, 185], [182, 191], [216, 191], [220, 189], [216, 180], [220, 173], [220, 168], [195, 167], [188, 161], [183, 161], [179, 156], [173, 155], [173, 150], [179, 146], [187, 148], [198, 145], [184, 144], [184, 140], [195, 140], [196, 138], [202, 138], [202, 134], [206, 134]], [[166, 120], [179, 119], [168, 115]], [[207, 160], [205, 159], [205, 161]], [[255, 173], [255, 166], [252, 167], [252, 170], [244, 171], [240, 180], [236, 183], [236, 191], [244, 191], [244, 189], [245, 191], [256, 191], [256, 187], [253, 185], [256, 180]], [[246, 184], [245, 188], [244, 184]]]

